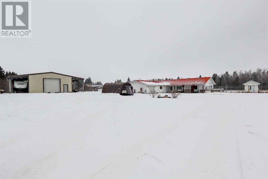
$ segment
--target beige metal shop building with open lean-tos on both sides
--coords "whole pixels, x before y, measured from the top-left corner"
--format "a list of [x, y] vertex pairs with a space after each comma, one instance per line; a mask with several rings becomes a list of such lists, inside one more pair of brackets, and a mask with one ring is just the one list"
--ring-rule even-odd
[[[78, 90], [79, 81], [83, 81], [84, 91], [84, 78], [55, 73], [33, 73], [23, 75], [12, 75], [8, 76], [9, 79], [9, 93], [13, 91], [14, 82], [16, 81], [27, 81], [28, 93], [43, 93], [43, 92], [72, 92], [75, 87]], [[18, 83], [16, 83], [18, 84]], [[17, 87], [16, 87], [17, 88]]]

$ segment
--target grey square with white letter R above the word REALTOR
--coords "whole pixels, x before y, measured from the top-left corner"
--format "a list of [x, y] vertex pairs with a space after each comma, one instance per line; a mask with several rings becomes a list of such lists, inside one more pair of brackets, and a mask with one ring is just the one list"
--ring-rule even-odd
[[2, 2], [2, 30], [28, 29], [28, 2]]

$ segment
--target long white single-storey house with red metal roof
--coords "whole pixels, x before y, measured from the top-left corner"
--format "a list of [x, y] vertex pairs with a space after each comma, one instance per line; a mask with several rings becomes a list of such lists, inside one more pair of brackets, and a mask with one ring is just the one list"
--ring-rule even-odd
[[211, 92], [216, 85], [211, 77], [185, 78], [177, 80], [144, 81], [134, 80], [130, 83], [134, 93], [150, 94], [151, 91], [158, 93], [184, 92], [203, 93]]

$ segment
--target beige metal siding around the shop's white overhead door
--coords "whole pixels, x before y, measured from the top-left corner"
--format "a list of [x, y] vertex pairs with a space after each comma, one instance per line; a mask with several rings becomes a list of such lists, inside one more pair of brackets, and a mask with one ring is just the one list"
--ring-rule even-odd
[[42, 93], [43, 92], [43, 78], [59, 78], [61, 79], [61, 92], [63, 85], [68, 84], [68, 92], [72, 92], [72, 77], [58, 75], [54, 73], [29, 75], [29, 93]]

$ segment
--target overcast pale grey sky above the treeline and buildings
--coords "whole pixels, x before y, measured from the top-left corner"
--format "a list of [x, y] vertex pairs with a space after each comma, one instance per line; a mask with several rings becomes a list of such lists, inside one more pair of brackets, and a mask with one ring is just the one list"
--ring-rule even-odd
[[267, 1], [32, 1], [32, 37], [0, 38], [0, 65], [93, 82], [268, 67]]

